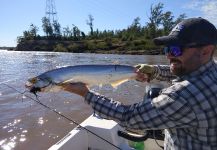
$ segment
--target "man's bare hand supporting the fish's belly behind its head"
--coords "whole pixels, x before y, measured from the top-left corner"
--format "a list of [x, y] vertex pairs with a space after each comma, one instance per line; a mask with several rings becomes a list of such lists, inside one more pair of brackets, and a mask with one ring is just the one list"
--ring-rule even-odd
[[77, 83], [63, 83], [60, 85], [63, 90], [78, 94], [82, 97], [85, 97], [89, 92], [89, 88], [86, 84], [77, 82]]

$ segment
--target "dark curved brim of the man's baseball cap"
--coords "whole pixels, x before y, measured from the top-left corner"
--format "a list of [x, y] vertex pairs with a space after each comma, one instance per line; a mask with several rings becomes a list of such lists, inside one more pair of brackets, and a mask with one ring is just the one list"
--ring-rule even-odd
[[155, 38], [153, 42], [156, 45], [171, 45], [171, 44], [180, 44], [178, 38], [176, 36], [168, 35], [168, 36], [161, 36]]

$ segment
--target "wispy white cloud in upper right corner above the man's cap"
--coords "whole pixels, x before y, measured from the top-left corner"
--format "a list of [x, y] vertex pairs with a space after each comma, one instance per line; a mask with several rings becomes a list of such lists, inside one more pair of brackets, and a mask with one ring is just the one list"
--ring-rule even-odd
[[185, 8], [200, 11], [201, 17], [217, 26], [217, 0], [192, 0]]

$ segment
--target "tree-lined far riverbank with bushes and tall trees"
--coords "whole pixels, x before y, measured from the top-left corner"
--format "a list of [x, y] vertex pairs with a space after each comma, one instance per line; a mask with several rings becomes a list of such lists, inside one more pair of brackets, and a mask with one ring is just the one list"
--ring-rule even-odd
[[[164, 4], [150, 7], [149, 20], [145, 26], [140, 18], [133, 20], [127, 29], [94, 30], [94, 17], [88, 15], [86, 24], [90, 31], [84, 33], [76, 25], [61, 27], [57, 21], [50, 22], [42, 18], [45, 36], [38, 34], [39, 27], [31, 24], [29, 29], [17, 38], [17, 51], [55, 51], [72, 53], [112, 53], [112, 54], [161, 54], [161, 47], [156, 47], [152, 39], [166, 35], [175, 24], [186, 18], [185, 14], [177, 18], [171, 11], [164, 11]], [[145, 11], [144, 11], [145, 13]]]

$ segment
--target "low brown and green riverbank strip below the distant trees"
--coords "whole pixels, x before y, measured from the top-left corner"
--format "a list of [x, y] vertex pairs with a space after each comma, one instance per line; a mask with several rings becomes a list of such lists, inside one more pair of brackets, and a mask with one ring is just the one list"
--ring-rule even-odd
[[[132, 41], [135, 42], [135, 41]], [[111, 42], [106, 44], [104, 40], [28, 40], [21, 42], [15, 51], [47, 51], [69, 53], [96, 53], [96, 54], [129, 54], [129, 55], [159, 55], [162, 54], [159, 47], [145, 48], [143, 43], [138, 43], [133, 48], [129, 42]]]

